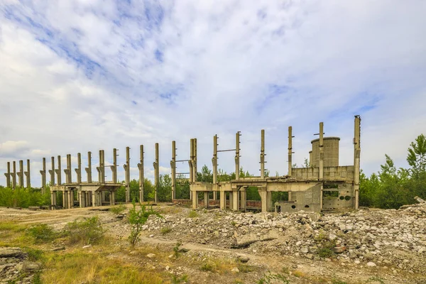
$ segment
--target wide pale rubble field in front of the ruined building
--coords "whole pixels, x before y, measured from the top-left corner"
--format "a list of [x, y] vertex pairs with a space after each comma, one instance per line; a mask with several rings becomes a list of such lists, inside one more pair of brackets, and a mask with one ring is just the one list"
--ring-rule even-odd
[[[426, 204], [401, 209], [324, 213], [237, 213], [219, 209], [151, 216], [148, 234], [213, 244], [251, 253], [276, 253], [318, 261], [426, 272]], [[163, 232], [165, 230], [163, 229]], [[419, 261], [413, 261], [418, 259]]]

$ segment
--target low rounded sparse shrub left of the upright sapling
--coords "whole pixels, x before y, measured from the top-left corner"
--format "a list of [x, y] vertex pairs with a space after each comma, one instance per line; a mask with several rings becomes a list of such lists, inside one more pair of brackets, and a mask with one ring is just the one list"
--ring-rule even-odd
[[95, 216], [68, 223], [64, 234], [70, 238], [70, 244], [97, 244], [104, 238], [104, 229], [99, 218]]

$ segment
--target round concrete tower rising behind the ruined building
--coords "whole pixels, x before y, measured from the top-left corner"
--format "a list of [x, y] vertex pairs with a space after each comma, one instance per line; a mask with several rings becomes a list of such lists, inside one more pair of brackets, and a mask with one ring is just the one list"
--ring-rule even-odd
[[[324, 137], [324, 167], [339, 166], [339, 137]], [[320, 139], [311, 141], [310, 165], [314, 168], [320, 166]]]

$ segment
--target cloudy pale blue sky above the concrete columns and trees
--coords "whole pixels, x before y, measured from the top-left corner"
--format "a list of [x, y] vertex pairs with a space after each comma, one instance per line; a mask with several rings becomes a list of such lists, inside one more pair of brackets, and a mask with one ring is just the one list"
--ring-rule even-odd
[[[266, 168], [285, 175], [288, 126], [301, 165], [320, 121], [351, 165], [354, 115], [365, 173], [385, 153], [407, 167], [426, 133], [425, 11], [422, 0], [0, 0], [0, 185], [8, 161], [31, 159], [38, 187], [43, 157], [65, 168], [70, 153], [76, 168], [82, 153], [84, 168], [87, 151], [97, 177], [99, 149], [110, 165], [112, 148], [124, 180], [126, 146], [138, 178], [141, 144], [152, 180], [155, 143], [169, 174], [171, 141], [187, 159], [190, 138], [198, 168], [212, 168], [213, 136], [235, 148], [236, 131], [241, 165], [259, 175], [261, 129]], [[234, 153], [219, 168], [234, 171]]]

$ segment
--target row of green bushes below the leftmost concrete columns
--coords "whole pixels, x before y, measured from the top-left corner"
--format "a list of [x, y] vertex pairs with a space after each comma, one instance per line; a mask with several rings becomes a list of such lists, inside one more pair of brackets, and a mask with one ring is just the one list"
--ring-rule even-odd
[[3, 187], [0, 190], [0, 206], [23, 207], [42, 206], [50, 204], [50, 190], [47, 189], [42, 195], [38, 188], [20, 188], [15, 190]]

